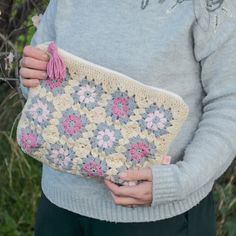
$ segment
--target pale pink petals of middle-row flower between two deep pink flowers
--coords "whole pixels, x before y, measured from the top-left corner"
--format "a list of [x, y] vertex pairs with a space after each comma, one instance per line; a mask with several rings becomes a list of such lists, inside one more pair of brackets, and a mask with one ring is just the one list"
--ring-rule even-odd
[[114, 131], [109, 129], [101, 130], [98, 132], [98, 146], [103, 148], [111, 148], [113, 146], [115, 139]]

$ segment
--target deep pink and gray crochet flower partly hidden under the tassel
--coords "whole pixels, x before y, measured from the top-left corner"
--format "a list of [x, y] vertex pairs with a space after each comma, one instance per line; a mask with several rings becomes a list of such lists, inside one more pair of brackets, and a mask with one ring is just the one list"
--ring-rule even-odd
[[47, 89], [47, 91], [50, 91], [53, 93], [54, 96], [64, 94], [64, 88], [68, 84], [68, 81], [70, 80], [70, 74], [67, 71], [66, 78], [64, 80], [59, 79], [49, 79], [42, 80], [42, 86]]

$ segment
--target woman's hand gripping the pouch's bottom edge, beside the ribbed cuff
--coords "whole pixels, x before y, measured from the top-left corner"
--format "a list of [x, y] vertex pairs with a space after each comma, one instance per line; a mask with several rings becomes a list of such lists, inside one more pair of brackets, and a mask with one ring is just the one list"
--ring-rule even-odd
[[152, 203], [152, 171], [150, 168], [128, 170], [120, 174], [124, 181], [142, 181], [134, 186], [119, 186], [109, 180], [105, 180], [115, 204], [125, 207], [150, 206]]

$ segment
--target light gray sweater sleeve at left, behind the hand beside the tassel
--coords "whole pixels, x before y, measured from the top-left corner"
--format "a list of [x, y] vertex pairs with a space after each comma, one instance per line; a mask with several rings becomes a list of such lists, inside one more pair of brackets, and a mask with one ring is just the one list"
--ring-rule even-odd
[[[56, 17], [57, 0], [51, 0], [48, 4], [46, 11], [43, 14], [41, 22], [38, 26], [37, 31], [33, 35], [31, 40], [31, 46], [37, 44], [53, 41], [56, 38], [55, 33], [55, 17]], [[20, 88], [23, 96], [27, 99], [28, 88], [22, 84], [22, 78], [20, 77]]]

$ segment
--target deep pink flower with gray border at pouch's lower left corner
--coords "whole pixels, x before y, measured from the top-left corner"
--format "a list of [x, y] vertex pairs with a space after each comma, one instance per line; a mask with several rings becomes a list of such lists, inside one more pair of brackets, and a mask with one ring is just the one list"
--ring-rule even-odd
[[23, 151], [26, 153], [31, 153], [35, 148], [40, 147], [43, 143], [42, 136], [30, 128], [20, 129], [17, 139]]

